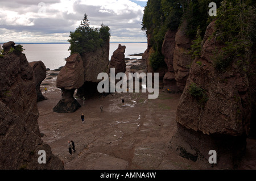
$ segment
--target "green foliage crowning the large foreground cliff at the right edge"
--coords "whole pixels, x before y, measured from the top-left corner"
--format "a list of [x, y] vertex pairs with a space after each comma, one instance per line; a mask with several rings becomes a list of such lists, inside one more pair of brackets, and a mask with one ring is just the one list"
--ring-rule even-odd
[[225, 46], [214, 57], [217, 70], [225, 71], [234, 60], [241, 67], [249, 64], [256, 33], [256, 10], [250, 4], [250, 1], [224, 0], [218, 9], [214, 35]]

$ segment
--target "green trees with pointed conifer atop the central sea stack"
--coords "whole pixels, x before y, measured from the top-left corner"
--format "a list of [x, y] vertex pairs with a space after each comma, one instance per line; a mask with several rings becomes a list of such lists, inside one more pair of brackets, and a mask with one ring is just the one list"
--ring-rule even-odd
[[100, 28], [91, 28], [87, 15], [81, 20], [80, 26], [74, 32], [70, 32], [68, 40], [72, 53], [89, 53], [94, 52], [102, 47], [110, 37], [110, 28], [101, 24]]

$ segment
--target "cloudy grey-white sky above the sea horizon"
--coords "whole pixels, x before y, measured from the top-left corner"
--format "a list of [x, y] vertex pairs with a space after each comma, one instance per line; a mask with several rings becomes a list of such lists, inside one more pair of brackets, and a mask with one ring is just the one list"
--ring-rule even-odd
[[84, 14], [90, 27], [110, 28], [110, 42], [146, 42], [147, 0], [0, 0], [0, 43], [67, 43]]

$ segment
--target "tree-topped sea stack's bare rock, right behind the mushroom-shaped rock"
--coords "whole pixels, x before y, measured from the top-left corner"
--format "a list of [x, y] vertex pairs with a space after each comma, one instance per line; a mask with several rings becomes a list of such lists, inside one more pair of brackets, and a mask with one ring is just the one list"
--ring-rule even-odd
[[98, 74], [109, 73], [109, 39], [94, 52], [81, 54], [84, 62], [84, 85], [77, 90], [77, 96], [88, 98], [99, 94]]

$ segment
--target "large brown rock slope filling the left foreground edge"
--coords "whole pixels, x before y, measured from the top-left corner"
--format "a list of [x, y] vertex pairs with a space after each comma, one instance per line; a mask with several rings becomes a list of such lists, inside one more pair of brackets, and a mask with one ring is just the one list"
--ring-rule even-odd
[[[33, 71], [22, 52], [9, 52], [20, 46], [14, 45], [4, 44], [0, 57], [0, 169], [64, 169], [40, 138]], [[46, 164], [39, 164], [39, 150], [46, 151]]]

